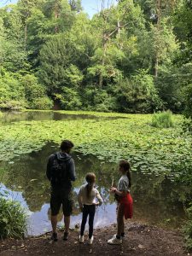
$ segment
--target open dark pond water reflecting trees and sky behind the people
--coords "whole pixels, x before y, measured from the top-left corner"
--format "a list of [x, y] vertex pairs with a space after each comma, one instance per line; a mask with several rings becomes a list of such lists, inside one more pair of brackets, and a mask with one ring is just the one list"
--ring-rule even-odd
[[[9, 197], [20, 201], [30, 216], [28, 232], [30, 235], [39, 235], [50, 230], [49, 210], [49, 182], [45, 177], [46, 162], [49, 154], [57, 149], [55, 144], [47, 144], [42, 151], [20, 156], [12, 164], [2, 163], [4, 169], [3, 190], [9, 191]], [[95, 172], [96, 185], [104, 199], [102, 207], [96, 211], [95, 226], [103, 226], [115, 222], [115, 208], [113, 196], [109, 196], [108, 189], [112, 179], [118, 181], [119, 173], [116, 165], [98, 160], [93, 155], [73, 153], [76, 163], [78, 179], [74, 183], [74, 212], [72, 226], [79, 224], [77, 194], [79, 187], [84, 183], [87, 172]], [[179, 203], [183, 189], [171, 183], [164, 176], [144, 175], [140, 172], [132, 173], [133, 187], [131, 193], [134, 198], [134, 220], [149, 224], [159, 224], [180, 227], [185, 218], [183, 204]], [[62, 214], [60, 215], [62, 224]]]

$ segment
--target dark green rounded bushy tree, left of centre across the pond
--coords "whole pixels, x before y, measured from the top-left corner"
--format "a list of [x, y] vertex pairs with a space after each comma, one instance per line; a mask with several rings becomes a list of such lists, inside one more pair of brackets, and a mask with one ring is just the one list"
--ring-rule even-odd
[[71, 38], [59, 35], [52, 38], [40, 51], [40, 78], [50, 94], [61, 93], [64, 86], [72, 86], [82, 80], [79, 70], [73, 66], [77, 50]]

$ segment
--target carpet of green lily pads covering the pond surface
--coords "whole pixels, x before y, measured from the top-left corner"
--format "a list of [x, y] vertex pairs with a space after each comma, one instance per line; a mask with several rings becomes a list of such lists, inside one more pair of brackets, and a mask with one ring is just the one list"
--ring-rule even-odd
[[[38, 151], [49, 141], [60, 143], [63, 134], [74, 141], [76, 150], [83, 154], [94, 154], [101, 160], [112, 162], [129, 158], [133, 171], [141, 168], [146, 173], [169, 175], [172, 172], [175, 175], [174, 162], [178, 159], [190, 162], [192, 159], [191, 137], [181, 135], [181, 116], [173, 116], [174, 128], [160, 130], [149, 125], [152, 115], [72, 113], [106, 119], [34, 120], [1, 126], [0, 160]], [[14, 151], [9, 150], [10, 145]]]

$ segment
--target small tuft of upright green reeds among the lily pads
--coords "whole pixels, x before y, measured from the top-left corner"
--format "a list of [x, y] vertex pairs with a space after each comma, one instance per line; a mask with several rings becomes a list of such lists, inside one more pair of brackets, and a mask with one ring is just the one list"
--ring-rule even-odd
[[173, 127], [172, 112], [170, 110], [160, 113], [154, 113], [152, 117], [152, 126], [156, 128]]

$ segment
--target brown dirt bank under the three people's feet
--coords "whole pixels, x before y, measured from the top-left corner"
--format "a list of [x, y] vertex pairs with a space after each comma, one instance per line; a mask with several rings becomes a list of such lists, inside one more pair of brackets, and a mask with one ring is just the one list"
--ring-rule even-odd
[[183, 237], [177, 231], [162, 230], [143, 224], [127, 224], [126, 238], [122, 246], [107, 244], [107, 240], [113, 234], [115, 234], [114, 226], [95, 230], [95, 240], [92, 246], [86, 241], [84, 244], [79, 244], [79, 232], [77, 231], [70, 233], [68, 241], [62, 241], [61, 232], [57, 242], [50, 241], [49, 234], [27, 238], [23, 241], [0, 241], [0, 255], [190, 255], [183, 252]]

